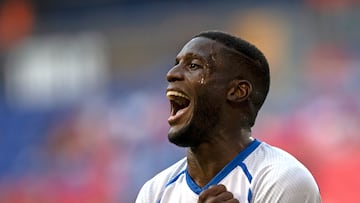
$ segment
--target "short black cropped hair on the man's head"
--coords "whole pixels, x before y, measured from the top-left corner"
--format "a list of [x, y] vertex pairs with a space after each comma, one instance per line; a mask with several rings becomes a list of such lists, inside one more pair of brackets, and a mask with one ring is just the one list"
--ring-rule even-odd
[[270, 87], [269, 64], [264, 54], [250, 42], [226, 32], [216, 30], [204, 31], [195, 35], [193, 38], [196, 37], [205, 37], [219, 42], [226, 47], [239, 52], [241, 56], [245, 56], [247, 59], [250, 59], [254, 62], [254, 65], [249, 67], [251, 68], [249, 69], [249, 73], [252, 74], [252, 82], [255, 83], [252, 84], [254, 92], [250, 96], [251, 102], [255, 107], [255, 115], [253, 115], [253, 119], [250, 121], [250, 125], [253, 126], [257, 112], [263, 105]]

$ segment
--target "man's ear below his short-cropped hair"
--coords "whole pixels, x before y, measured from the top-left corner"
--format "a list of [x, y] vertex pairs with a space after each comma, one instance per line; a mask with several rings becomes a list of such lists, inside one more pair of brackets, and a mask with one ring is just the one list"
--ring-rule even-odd
[[252, 85], [247, 80], [233, 80], [227, 92], [227, 100], [232, 102], [242, 102], [246, 100], [252, 92]]

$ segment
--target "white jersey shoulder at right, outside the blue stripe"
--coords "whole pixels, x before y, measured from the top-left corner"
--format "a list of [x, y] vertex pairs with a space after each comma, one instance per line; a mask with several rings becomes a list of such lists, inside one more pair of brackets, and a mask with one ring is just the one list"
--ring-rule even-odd
[[255, 202], [321, 202], [312, 174], [295, 157], [266, 143], [255, 153]]

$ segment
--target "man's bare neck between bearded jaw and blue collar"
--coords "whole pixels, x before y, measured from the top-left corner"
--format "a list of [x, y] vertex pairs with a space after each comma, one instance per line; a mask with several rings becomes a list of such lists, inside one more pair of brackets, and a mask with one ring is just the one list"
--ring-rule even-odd
[[205, 186], [254, 140], [249, 129], [241, 129], [234, 134], [220, 132], [211, 137], [211, 140], [187, 151], [189, 175], [200, 187]]

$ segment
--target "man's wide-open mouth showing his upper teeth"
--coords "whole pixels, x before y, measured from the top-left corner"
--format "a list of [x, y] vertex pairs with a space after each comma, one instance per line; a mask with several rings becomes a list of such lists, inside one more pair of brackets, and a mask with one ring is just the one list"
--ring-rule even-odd
[[170, 100], [171, 113], [169, 120], [175, 120], [181, 116], [187, 107], [190, 105], [190, 98], [178, 91], [168, 91], [166, 96]]

